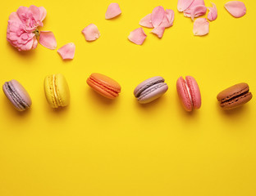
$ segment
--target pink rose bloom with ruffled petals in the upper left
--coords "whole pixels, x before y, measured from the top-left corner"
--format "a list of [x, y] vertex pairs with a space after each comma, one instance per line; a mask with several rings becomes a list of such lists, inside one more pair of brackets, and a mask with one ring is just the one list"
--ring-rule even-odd
[[7, 41], [18, 51], [29, 51], [38, 45], [38, 26], [43, 26], [46, 16], [44, 7], [19, 7], [9, 16]]

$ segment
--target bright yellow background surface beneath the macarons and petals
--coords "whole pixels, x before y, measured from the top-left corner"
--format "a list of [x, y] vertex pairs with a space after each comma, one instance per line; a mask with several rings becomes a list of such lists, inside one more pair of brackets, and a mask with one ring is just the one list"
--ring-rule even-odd
[[[253, 196], [256, 194], [255, 98], [225, 112], [217, 93], [248, 82], [256, 96], [256, 2], [245, 1], [247, 14], [233, 18], [215, 0], [217, 20], [210, 32], [194, 37], [193, 23], [176, 10], [177, 1], [119, 0], [122, 14], [105, 20], [103, 0], [4, 1], [0, 12], [1, 85], [16, 79], [30, 93], [32, 108], [19, 113], [0, 94], [1, 196]], [[210, 1], [205, 1], [211, 6]], [[6, 40], [7, 20], [19, 6], [43, 6], [43, 28], [57, 48], [74, 42], [74, 60], [39, 45], [19, 52]], [[127, 37], [154, 7], [175, 11], [173, 27], [158, 39], [151, 29], [143, 46]], [[86, 42], [81, 30], [90, 23], [101, 37]], [[105, 100], [86, 84], [90, 73], [120, 82], [117, 100]], [[71, 104], [51, 109], [43, 79], [62, 73]], [[160, 75], [167, 93], [139, 105], [134, 88]], [[176, 94], [176, 79], [199, 82], [202, 107], [186, 113]]]

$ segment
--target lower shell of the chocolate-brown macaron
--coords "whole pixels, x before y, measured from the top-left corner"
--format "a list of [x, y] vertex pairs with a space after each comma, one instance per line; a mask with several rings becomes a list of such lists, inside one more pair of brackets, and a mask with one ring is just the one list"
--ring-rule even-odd
[[232, 100], [221, 103], [222, 109], [235, 109], [241, 105], [246, 104], [249, 100], [253, 98], [251, 92], [247, 92], [242, 96], [238, 96]]

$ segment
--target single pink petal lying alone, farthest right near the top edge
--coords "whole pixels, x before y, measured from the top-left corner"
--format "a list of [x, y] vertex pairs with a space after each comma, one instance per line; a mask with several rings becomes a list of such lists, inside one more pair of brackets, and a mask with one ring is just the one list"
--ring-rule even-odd
[[239, 1], [226, 2], [224, 7], [235, 18], [240, 18], [244, 16], [246, 13], [246, 7], [244, 2], [239, 2]]

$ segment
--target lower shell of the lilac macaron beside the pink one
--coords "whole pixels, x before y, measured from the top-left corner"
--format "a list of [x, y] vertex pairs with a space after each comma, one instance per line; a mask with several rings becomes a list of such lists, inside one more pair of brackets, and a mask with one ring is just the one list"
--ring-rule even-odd
[[158, 99], [168, 90], [167, 83], [161, 82], [147, 88], [138, 97], [139, 104], [148, 104], [149, 102]]

